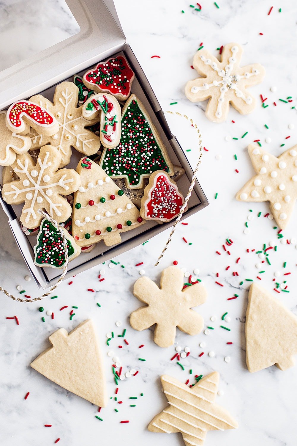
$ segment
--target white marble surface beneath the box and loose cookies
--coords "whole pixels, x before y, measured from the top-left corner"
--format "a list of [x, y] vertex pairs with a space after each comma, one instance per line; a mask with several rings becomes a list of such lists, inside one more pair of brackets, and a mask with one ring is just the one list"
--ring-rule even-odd
[[[35, 7], [37, 6], [37, 13]], [[2, 1], [0, 3], [0, 30], [4, 37], [0, 45], [1, 67], [11, 65], [33, 54], [48, 45], [48, 39], [65, 38], [75, 33], [76, 25], [69, 19], [68, 12], [62, 9], [62, 2], [35, 1]], [[264, 264], [265, 273], [260, 276], [261, 284], [271, 290], [285, 303], [285, 306], [296, 313], [296, 249], [291, 244], [281, 244], [277, 240], [274, 222], [263, 215], [269, 212], [266, 203], [251, 205], [236, 202], [234, 194], [252, 175], [252, 167], [248, 160], [246, 146], [255, 139], [260, 139], [265, 149], [275, 155], [283, 150], [280, 145], [285, 142], [284, 149], [293, 146], [297, 141], [297, 113], [291, 106], [297, 103], [296, 91], [296, 13], [297, 6], [293, 2], [283, 5], [274, 4], [268, 16], [271, 3], [269, 1], [233, 1], [218, 2], [217, 9], [213, 2], [201, 2], [201, 12], [189, 8], [187, 1], [169, 2], [151, 0], [139, 2], [135, 0], [116, 1], [118, 14], [132, 49], [147, 74], [149, 81], [163, 109], [183, 111], [199, 124], [203, 136], [203, 145], [208, 152], [203, 153], [203, 162], [199, 171], [199, 181], [205, 191], [210, 206], [187, 220], [188, 225], [179, 225], [175, 238], [162, 263], [153, 268], [160, 248], [166, 240], [166, 234], [159, 235], [148, 244], [114, 259], [120, 262], [109, 268], [110, 262], [102, 267], [93, 268], [73, 279], [73, 285], [62, 284], [57, 290], [58, 298], [49, 298], [42, 302], [46, 310], [54, 312], [54, 319], [39, 313], [38, 304], [25, 305], [13, 302], [1, 295], [0, 318], [0, 442], [5, 446], [53, 445], [61, 438], [59, 445], [95, 446], [119, 443], [122, 445], [142, 444], [182, 445], [180, 434], [153, 434], [146, 431], [151, 418], [166, 406], [166, 398], [160, 392], [159, 376], [169, 373], [181, 381], [190, 378], [189, 369], [196, 374], [207, 374], [218, 370], [221, 374], [220, 389], [224, 396], [218, 396], [217, 402], [224, 405], [239, 422], [239, 429], [226, 432], [210, 432], [206, 445], [259, 445], [259, 446], [293, 446], [296, 444], [296, 383], [297, 368], [281, 372], [274, 366], [254, 375], [245, 366], [244, 354], [244, 314], [247, 305], [248, 281], [239, 286], [240, 280], [252, 278], [256, 281], [260, 259], [255, 253], [247, 253], [246, 249], [261, 250], [263, 244], [277, 244], [277, 252], [270, 251], [271, 266]], [[34, 7], [33, 7], [34, 5]], [[42, 5], [42, 6], [41, 6]], [[282, 6], [281, 13], [278, 8]], [[185, 13], [182, 14], [181, 10]], [[34, 12], [33, 12], [34, 11]], [[64, 12], [63, 12], [64, 11]], [[32, 27], [42, 25], [38, 38], [32, 33]], [[30, 30], [31, 29], [31, 30]], [[41, 30], [40, 28], [38, 28]], [[46, 33], [45, 39], [41, 38]], [[263, 35], [259, 35], [263, 33]], [[9, 37], [8, 37], [9, 36]], [[11, 40], [9, 40], [11, 39]], [[9, 41], [9, 45], [8, 42]], [[253, 87], [252, 93], [257, 98], [257, 108], [249, 116], [240, 116], [231, 110], [225, 124], [212, 124], [204, 116], [205, 103], [189, 103], [184, 96], [183, 86], [188, 79], [195, 77], [191, 70], [191, 58], [200, 42], [218, 54], [216, 48], [229, 41], [244, 45], [243, 64], [261, 62], [266, 68], [266, 77], [260, 86]], [[20, 46], [21, 42], [21, 46]], [[151, 56], [157, 54], [160, 58]], [[277, 92], [271, 92], [271, 87]], [[268, 97], [269, 107], [261, 107], [260, 93]], [[293, 97], [293, 103], [282, 103], [279, 98]], [[177, 105], [169, 106], [171, 102]], [[277, 107], [273, 105], [276, 101]], [[231, 120], [235, 120], [232, 124]], [[188, 152], [192, 165], [195, 165], [197, 148], [195, 132], [179, 118], [171, 118], [170, 123], [184, 149]], [[289, 130], [288, 125], [295, 124]], [[269, 126], [269, 129], [264, 127]], [[241, 136], [248, 131], [244, 139]], [[239, 140], [226, 141], [225, 137], [238, 137]], [[285, 140], [286, 136], [291, 136]], [[265, 138], [271, 138], [270, 144]], [[234, 154], [238, 161], [235, 161]], [[218, 159], [217, 159], [218, 158]], [[235, 172], [239, 170], [239, 173]], [[218, 192], [215, 200], [214, 196]], [[252, 212], [249, 210], [252, 209]], [[258, 212], [262, 212], [260, 218]], [[247, 217], [253, 216], [249, 220]], [[297, 211], [295, 209], [288, 229], [283, 231], [284, 239], [297, 237]], [[249, 234], [244, 235], [244, 223], [248, 221]], [[22, 285], [26, 293], [36, 297], [37, 289], [33, 281], [27, 282], [24, 277], [27, 270], [18, 252], [16, 244], [7, 226], [6, 216], [0, 211], [0, 283], [13, 293], [17, 293], [16, 285]], [[186, 244], [185, 237], [192, 245]], [[227, 237], [233, 240], [231, 255], [224, 252], [222, 244]], [[221, 256], [216, 251], [221, 252]], [[236, 259], [240, 261], [236, 264]], [[208, 290], [207, 302], [197, 308], [205, 318], [205, 325], [212, 325], [215, 330], [209, 336], [201, 333], [190, 337], [179, 332], [176, 344], [191, 347], [191, 355], [182, 359], [185, 371], [175, 361], [170, 361], [175, 348], [161, 349], [152, 342], [152, 332], [136, 332], [129, 326], [128, 317], [139, 303], [131, 293], [134, 281], [140, 277], [139, 269], [159, 281], [160, 273], [173, 260], [190, 273], [199, 268], [199, 278]], [[287, 267], [283, 268], [283, 263]], [[144, 262], [140, 267], [135, 264]], [[125, 265], [121, 268], [120, 265]], [[228, 271], [225, 268], [230, 265]], [[100, 269], [104, 269], [98, 281]], [[233, 271], [239, 277], [232, 275]], [[291, 293], [277, 294], [273, 291], [274, 273], [281, 273], [277, 280], [287, 284]], [[283, 276], [291, 272], [289, 276]], [[219, 273], [219, 278], [216, 278]], [[216, 285], [220, 281], [224, 287]], [[93, 288], [96, 292], [88, 292]], [[238, 293], [237, 300], [227, 301], [233, 293]], [[100, 302], [101, 308], [96, 305]], [[59, 311], [62, 306], [78, 306], [72, 322], [69, 320], [69, 308]], [[231, 321], [228, 332], [220, 328], [220, 317], [228, 311]], [[17, 315], [20, 325], [6, 317]], [[41, 316], [46, 322], [41, 322]], [[210, 317], [216, 315], [216, 322]], [[95, 418], [97, 408], [77, 396], [65, 392], [29, 367], [29, 363], [48, 346], [47, 338], [58, 327], [73, 329], [85, 318], [93, 318], [101, 338], [104, 353], [107, 390], [114, 396], [115, 385], [111, 373], [112, 359], [107, 352], [112, 350], [122, 363], [123, 371], [130, 368], [139, 370], [137, 376], [126, 379], [119, 384], [119, 405], [109, 401], [108, 407], [102, 409], [104, 421]], [[116, 321], [122, 326], [117, 328]], [[277, 342], [278, 325], [275, 320]], [[227, 324], [226, 324], [227, 325]], [[122, 349], [121, 338], [113, 340], [110, 347], [105, 343], [106, 333], [114, 330], [118, 335], [126, 328], [126, 339], [129, 346]], [[228, 346], [226, 342], [232, 341]], [[205, 342], [201, 349], [199, 343]], [[140, 344], [145, 347], [138, 349]], [[198, 358], [201, 351], [205, 354]], [[215, 356], [207, 353], [214, 351]], [[231, 358], [229, 363], [224, 357]], [[138, 360], [145, 358], [146, 362]], [[24, 396], [30, 392], [25, 401]], [[144, 396], [139, 397], [143, 392]], [[138, 400], [129, 400], [129, 396], [138, 396]], [[136, 408], [130, 408], [136, 401]], [[114, 411], [117, 408], [118, 413]], [[130, 420], [129, 424], [120, 424], [120, 420]], [[45, 428], [45, 424], [52, 424]]]

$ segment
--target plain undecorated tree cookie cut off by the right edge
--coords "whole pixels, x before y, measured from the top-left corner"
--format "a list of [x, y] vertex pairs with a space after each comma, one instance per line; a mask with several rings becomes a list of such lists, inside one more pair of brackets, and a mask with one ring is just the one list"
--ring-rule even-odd
[[297, 317], [264, 288], [253, 283], [245, 322], [246, 363], [250, 372], [274, 364], [293, 367], [297, 354]]

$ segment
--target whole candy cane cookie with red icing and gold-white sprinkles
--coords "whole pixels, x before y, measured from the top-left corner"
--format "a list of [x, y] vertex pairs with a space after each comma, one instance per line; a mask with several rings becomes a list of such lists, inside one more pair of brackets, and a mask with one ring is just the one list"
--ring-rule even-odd
[[59, 130], [56, 118], [45, 108], [31, 101], [17, 101], [6, 113], [6, 125], [16, 133], [26, 135], [33, 127], [41, 135], [52, 136]]

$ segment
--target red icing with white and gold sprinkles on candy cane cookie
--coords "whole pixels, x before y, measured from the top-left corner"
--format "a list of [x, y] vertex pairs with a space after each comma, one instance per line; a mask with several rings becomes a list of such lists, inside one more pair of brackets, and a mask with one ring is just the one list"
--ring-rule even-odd
[[8, 121], [10, 125], [19, 128], [22, 125], [22, 115], [25, 114], [28, 118], [39, 125], [53, 125], [54, 117], [49, 111], [40, 107], [39, 105], [30, 101], [18, 101], [8, 112]]

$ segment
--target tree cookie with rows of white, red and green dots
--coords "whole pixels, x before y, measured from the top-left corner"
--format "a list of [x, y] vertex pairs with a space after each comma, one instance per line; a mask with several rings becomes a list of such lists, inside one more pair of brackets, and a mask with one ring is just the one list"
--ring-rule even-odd
[[137, 207], [89, 158], [82, 158], [77, 172], [81, 186], [74, 194], [72, 235], [81, 247], [103, 240], [106, 246], [121, 243], [121, 232], [144, 223]]

